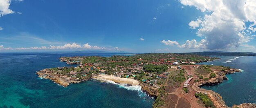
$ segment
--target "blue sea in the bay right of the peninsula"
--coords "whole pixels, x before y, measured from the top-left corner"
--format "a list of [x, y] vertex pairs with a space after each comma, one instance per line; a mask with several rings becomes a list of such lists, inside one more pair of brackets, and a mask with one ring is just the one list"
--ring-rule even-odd
[[243, 72], [228, 74], [226, 75], [228, 80], [214, 86], [203, 86], [202, 88], [219, 93], [229, 107], [233, 106], [233, 104], [256, 103], [256, 57], [222, 56], [220, 58], [220, 60], [200, 64], [229, 66], [242, 69]]

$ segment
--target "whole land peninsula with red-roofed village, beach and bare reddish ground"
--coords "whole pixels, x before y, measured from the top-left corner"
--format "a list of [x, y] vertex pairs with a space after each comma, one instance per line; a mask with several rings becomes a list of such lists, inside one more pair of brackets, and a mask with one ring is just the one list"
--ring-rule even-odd
[[[202, 85], [222, 82], [227, 73], [240, 72], [224, 66], [195, 64], [216, 59], [173, 53], [60, 57], [60, 62], [71, 66], [47, 68], [37, 74], [38, 77], [51, 79], [64, 87], [91, 78], [125, 82], [130, 86], [139, 85], [148, 95], [155, 97], [153, 108], [228, 108], [215, 92], [200, 88]], [[239, 108], [247, 105], [240, 105]]]

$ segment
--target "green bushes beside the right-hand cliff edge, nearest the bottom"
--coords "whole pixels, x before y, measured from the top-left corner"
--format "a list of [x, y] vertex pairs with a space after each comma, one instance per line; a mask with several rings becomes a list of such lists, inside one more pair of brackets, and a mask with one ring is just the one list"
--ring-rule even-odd
[[213, 101], [211, 101], [208, 95], [204, 95], [203, 93], [195, 93], [195, 97], [199, 97], [199, 99], [204, 103], [205, 107], [213, 107]]

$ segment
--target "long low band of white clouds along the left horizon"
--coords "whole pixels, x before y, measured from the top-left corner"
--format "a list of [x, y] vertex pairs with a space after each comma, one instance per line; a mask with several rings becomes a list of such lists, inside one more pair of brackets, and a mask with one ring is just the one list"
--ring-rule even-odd
[[3, 45], [0, 46], [0, 49], [2, 50], [46, 50], [46, 49], [57, 49], [57, 50], [64, 50], [64, 49], [103, 49], [106, 50], [105, 47], [99, 47], [99, 46], [91, 46], [88, 43], [83, 44], [83, 46], [76, 44], [76, 43], [72, 43], [72, 44], [65, 44], [63, 46], [54, 46], [54, 45], [49, 45], [47, 46], [41, 46], [41, 47], [28, 47], [28, 48], [24, 48], [24, 47], [20, 47], [20, 48], [4, 48]]

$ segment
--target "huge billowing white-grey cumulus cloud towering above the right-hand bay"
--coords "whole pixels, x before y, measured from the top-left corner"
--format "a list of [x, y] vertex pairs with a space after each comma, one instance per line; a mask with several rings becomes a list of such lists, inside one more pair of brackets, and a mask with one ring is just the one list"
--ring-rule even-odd
[[[185, 6], [193, 6], [205, 13], [204, 17], [191, 21], [191, 29], [204, 38], [205, 48], [237, 48], [254, 39], [256, 0], [180, 0]], [[249, 27], [245, 23], [252, 23]], [[248, 32], [247, 32], [248, 31]]]

